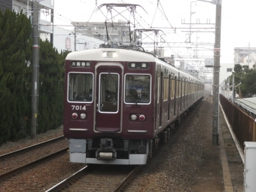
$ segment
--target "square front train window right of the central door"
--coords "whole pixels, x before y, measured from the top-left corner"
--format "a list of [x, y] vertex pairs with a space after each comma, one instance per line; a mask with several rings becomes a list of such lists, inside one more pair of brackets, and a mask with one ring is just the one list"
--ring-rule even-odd
[[125, 102], [149, 103], [151, 101], [151, 75], [126, 75]]

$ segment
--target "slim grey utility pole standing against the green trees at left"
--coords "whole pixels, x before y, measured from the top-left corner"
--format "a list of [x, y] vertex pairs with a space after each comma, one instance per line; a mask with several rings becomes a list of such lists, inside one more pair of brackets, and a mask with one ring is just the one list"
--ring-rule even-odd
[[[35, 3], [34, 3], [35, 2]], [[38, 32], [38, 2], [32, 2], [32, 118], [31, 118], [31, 139], [36, 137], [38, 126], [38, 52], [39, 52], [39, 32]]]

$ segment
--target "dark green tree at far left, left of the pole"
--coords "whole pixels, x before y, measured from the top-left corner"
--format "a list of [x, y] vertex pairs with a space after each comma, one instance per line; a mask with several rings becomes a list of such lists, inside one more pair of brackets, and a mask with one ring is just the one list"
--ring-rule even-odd
[[32, 26], [23, 12], [0, 10], [0, 144], [28, 132], [29, 98], [26, 60], [30, 59]]

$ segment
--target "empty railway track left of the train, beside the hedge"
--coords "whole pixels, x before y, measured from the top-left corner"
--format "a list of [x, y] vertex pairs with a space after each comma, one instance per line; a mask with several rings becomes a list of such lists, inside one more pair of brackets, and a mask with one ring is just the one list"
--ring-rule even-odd
[[37, 145], [4, 154], [0, 156], [0, 180], [22, 172], [56, 155], [65, 153], [67, 150], [68, 144], [64, 136], [60, 136], [56, 139], [50, 139]]

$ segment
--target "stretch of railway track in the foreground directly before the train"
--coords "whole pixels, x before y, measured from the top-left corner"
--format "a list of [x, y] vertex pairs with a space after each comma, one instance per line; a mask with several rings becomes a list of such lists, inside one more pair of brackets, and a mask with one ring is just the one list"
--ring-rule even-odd
[[[124, 184], [132, 178], [142, 166], [84, 166], [78, 172], [65, 178], [47, 192], [53, 191], [93, 191], [99, 186], [106, 191], [120, 191]], [[101, 184], [100, 184], [101, 183]]]

